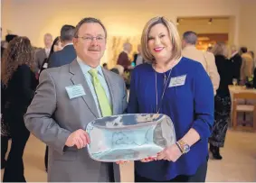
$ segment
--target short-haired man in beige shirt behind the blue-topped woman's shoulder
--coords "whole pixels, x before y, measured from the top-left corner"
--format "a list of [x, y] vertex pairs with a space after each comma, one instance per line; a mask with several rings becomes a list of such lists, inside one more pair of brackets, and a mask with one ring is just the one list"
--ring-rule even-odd
[[220, 76], [216, 68], [214, 55], [209, 51], [197, 50], [195, 47], [196, 42], [197, 34], [195, 32], [185, 32], [182, 40], [182, 55], [186, 58], [194, 59], [203, 65], [212, 80], [214, 95], [216, 95], [216, 90], [220, 85]]

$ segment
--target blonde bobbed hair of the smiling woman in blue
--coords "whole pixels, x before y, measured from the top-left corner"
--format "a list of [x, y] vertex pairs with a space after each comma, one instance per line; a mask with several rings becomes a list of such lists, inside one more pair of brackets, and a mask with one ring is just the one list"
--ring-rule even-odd
[[173, 54], [171, 59], [179, 59], [181, 57], [181, 39], [179, 36], [179, 33], [176, 29], [175, 23], [168, 20], [166, 17], [154, 17], [151, 20], [149, 20], [142, 32], [141, 36], [141, 54], [144, 59], [146, 59], [148, 62], [154, 62], [155, 58], [151, 54], [150, 50], [147, 47], [147, 41], [148, 41], [148, 34], [153, 26], [156, 24], [161, 23], [166, 26], [167, 31], [169, 32], [169, 37], [171, 38], [172, 45], [173, 45]]

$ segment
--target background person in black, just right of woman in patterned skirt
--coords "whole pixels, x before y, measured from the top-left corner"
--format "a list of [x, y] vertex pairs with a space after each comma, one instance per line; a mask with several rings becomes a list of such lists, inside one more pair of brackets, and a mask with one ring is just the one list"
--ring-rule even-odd
[[239, 54], [239, 52], [236, 49], [236, 46], [232, 45], [231, 47], [231, 52], [232, 52], [232, 56], [231, 56], [231, 61], [233, 64], [233, 77], [237, 79], [237, 82], [240, 82], [240, 71], [241, 71], [241, 66], [242, 66], [242, 57]]

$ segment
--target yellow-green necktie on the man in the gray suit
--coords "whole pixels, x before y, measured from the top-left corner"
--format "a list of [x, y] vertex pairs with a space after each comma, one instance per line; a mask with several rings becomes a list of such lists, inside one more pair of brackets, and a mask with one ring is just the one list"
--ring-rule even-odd
[[102, 117], [112, 115], [112, 110], [109, 105], [109, 99], [104, 91], [104, 88], [100, 84], [97, 69], [90, 69], [89, 73], [92, 77], [92, 84], [98, 97]]

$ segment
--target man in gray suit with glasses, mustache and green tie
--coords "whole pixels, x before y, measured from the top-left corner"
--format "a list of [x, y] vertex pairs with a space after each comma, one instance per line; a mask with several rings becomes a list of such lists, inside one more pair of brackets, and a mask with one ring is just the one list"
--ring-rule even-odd
[[118, 164], [90, 159], [86, 145], [93, 140], [84, 131], [91, 121], [127, 107], [124, 80], [100, 67], [106, 39], [100, 20], [81, 20], [73, 39], [77, 59], [43, 70], [24, 115], [29, 131], [49, 146], [48, 181], [120, 181]]

